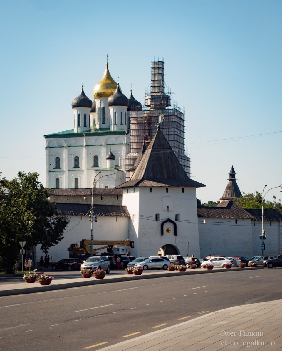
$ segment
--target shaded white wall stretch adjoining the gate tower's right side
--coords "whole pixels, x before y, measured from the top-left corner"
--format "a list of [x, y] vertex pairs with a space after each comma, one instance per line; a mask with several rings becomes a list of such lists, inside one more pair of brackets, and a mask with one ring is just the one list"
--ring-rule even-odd
[[199, 218], [200, 254], [253, 256], [252, 222], [250, 219]]

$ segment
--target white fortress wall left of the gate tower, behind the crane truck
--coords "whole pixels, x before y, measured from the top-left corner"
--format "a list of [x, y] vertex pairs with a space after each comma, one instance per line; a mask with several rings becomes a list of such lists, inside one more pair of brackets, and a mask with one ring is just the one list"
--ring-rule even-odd
[[[67, 233], [64, 234], [64, 239], [60, 241], [59, 244], [49, 249], [48, 253], [50, 257], [52, 256], [53, 262], [56, 262], [63, 258], [69, 258], [68, 247], [71, 244], [77, 243], [80, 245], [81, 239], [90, 240], [91, 222], [88, 221], [88, 216], [85, 217], [82, 221], [81, 216], [70, 216], [70, 219], [71, 222], [65, 230]], [[75, 225], [77, 226], [75, 227]], [[128, 228], [128, 217], [117, 217], [117, 221], [116, 217], [97, 217], [97, 222], [93, 223], [94, 240], [127, 240]], [[36, 255], [37, 260], [39, 260], [39, 257], [42, 255], [42, 251], [40, 251], [40, 245], [37, 245], [36, 247]]]

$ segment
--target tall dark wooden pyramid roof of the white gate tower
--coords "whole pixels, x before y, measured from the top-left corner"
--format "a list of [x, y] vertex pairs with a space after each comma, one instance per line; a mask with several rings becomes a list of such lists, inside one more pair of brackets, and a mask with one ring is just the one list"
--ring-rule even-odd
[[160, 128], [153, 136], [131, 179], [116, 188], [131, 186], [205, 186], [190, 179]]

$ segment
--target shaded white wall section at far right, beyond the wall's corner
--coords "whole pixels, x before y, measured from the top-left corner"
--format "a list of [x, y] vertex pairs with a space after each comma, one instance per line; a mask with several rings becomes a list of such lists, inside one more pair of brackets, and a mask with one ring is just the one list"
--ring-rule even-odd
[[[263, 221], [263, 230], [266, 235], [264, 240], [265, 250], [264, 256], [278, 256], [279, 254], [279, 237], [280, 237], [280, 223], [281, 222], [266, 222]], [[253, 256], [262, 254], [260, 235], [262, 232], [262, 222], [252, 222], [252, 238], [253, 238]], [[248, 257], [248, 256], [247, 256]]]

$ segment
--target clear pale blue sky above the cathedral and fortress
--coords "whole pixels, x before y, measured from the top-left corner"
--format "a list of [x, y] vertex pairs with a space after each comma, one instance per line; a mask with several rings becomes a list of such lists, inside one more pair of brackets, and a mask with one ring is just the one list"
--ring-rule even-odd
[[[144, 103], [151, 58], [185, 109], [185, 147], [202, 202], [231, 167], [241, 192], [282, 184], [280, 0], [0, 0], [1, 177], [37, 172], [43, 135], [73, 128], [71, 101], [92, 100], [109, 71]], [[265, 199], [281, 189], [270, 190]]]

